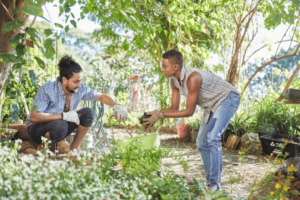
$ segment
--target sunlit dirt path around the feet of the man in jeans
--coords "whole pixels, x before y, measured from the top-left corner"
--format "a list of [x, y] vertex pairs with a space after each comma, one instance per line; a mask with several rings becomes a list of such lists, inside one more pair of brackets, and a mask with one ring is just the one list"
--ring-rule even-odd
[[[107, 128], [111, 132], [111, 128]], [[137, 136], [137, 130], [130, 130], [131, 134]], [[124, 139], [130, 137], [128, 132], [122, 128], [113, 129], [114, 137], [116, 139]], [[161, 171], [173, 170], [178, 176], [187, 180], [189, 185], [193, 185], [193, 178], [205, 180], [205, 170], [201, 155], [195, 143], [190, 142], [189, 138], [178, 139], [177, 134], [160, 133], [161, 145], [171, 148], [176, 148], [180, 153], [188, 153], [190, 156], [188, 160], [188, 171], [185, 174], [181, 165], [175, 159], [164, 158]], [[221, 187], [225, 189], [232, 197], [236, 198], [238, 195], [249, 199], [261, 199], [267, 195], [266, 191], [272, 191], [274, 184], [270, 184], [270, 188], [259, 189], [251, 194], [251, 190], [257, 187], [258, 184], [265, 177], [268, 167], [271, 165], [267, 155], [246, 155], [243, 162], [239, 161], [240, 155], [238, 150], [230, 151], [223, 149], [223, 173], [221, 179]], [[230, 182], [232, 184], [230, 184]], [[300, 180], [296, 179], [292, 182], [292, 190], [300, 192]], [[289, 199], [300, 199], [300, 197], [293, 196]]]

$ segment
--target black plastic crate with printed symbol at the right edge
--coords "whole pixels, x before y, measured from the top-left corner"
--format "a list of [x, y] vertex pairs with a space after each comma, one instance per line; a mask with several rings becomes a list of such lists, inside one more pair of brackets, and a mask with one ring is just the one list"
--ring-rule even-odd
[[286, 159], [298, 156], [300, 147], [299, 137], [294, 137], [293, 140], [297, 143], [289, 142], [282, 152], [280, 151], [280, 148], [283, 147], [284, 141], [279, 140], [278, 138], [288, 139], [288, 136], [282, 134], [269, 134], [260, 136], [263, 152], [265, 154], [270, 155], [273, 153], [276, 156], [281, 153], [284, 155], [285, 152], [287, 152], [289, 155], [286, 157]]

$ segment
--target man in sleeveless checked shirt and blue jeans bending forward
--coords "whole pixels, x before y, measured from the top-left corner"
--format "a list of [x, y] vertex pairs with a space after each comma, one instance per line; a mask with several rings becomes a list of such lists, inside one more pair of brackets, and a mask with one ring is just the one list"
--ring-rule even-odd
[[[204, 108], [199, 128], [197, 147], [203, 159], [207, 186], [221, 188], [221, 137], [240, 104], [240, 94], [227, 81], [202, 69], [183, 65], [183, 55], [177, 50], [163, 54], [162, 73], [171, 77], [171, 107], [163, 111], [147, 112], [146, 127], [162, 118], [192, 116], [196, 105]], [[186, 109], [179, 111], [180, 95], [186, 96]]]

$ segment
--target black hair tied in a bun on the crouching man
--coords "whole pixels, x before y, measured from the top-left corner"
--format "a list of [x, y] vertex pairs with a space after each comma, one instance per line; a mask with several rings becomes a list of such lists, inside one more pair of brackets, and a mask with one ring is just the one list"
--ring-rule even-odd
[[82, 72], [81, 66], [71, 56], [64, 56], [60, 59], [58, 70], [59, 77], [57, 77], [57, 80], [60, 82], [62, 82], [62, 77], [66, 77], [69, 80], [72, 78], [73, 73]]

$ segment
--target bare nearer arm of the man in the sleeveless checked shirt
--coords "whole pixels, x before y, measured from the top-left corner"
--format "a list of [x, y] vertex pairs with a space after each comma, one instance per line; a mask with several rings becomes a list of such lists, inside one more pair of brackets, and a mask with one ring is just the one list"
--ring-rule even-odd
[[[199, 98], [199, 90], [202, 83], [202, 76], [198, 72], [193, 72], [188, 80], [186, 81], [188, 94], [186, 99], [186, 109], [180, 110], [177, 112], [169, 112], [164, 110], [163, 113], [165, 117], [168, 118], [177, 118], [177, 117], [189, 117], [192, 116], [195, 112], [197, 101]], [[173, 90], [172, 90], [173, 92]], [[173, 97], [173, 94], [172, 94]], [[172, 99], [173, 101], [173, 99]]]

